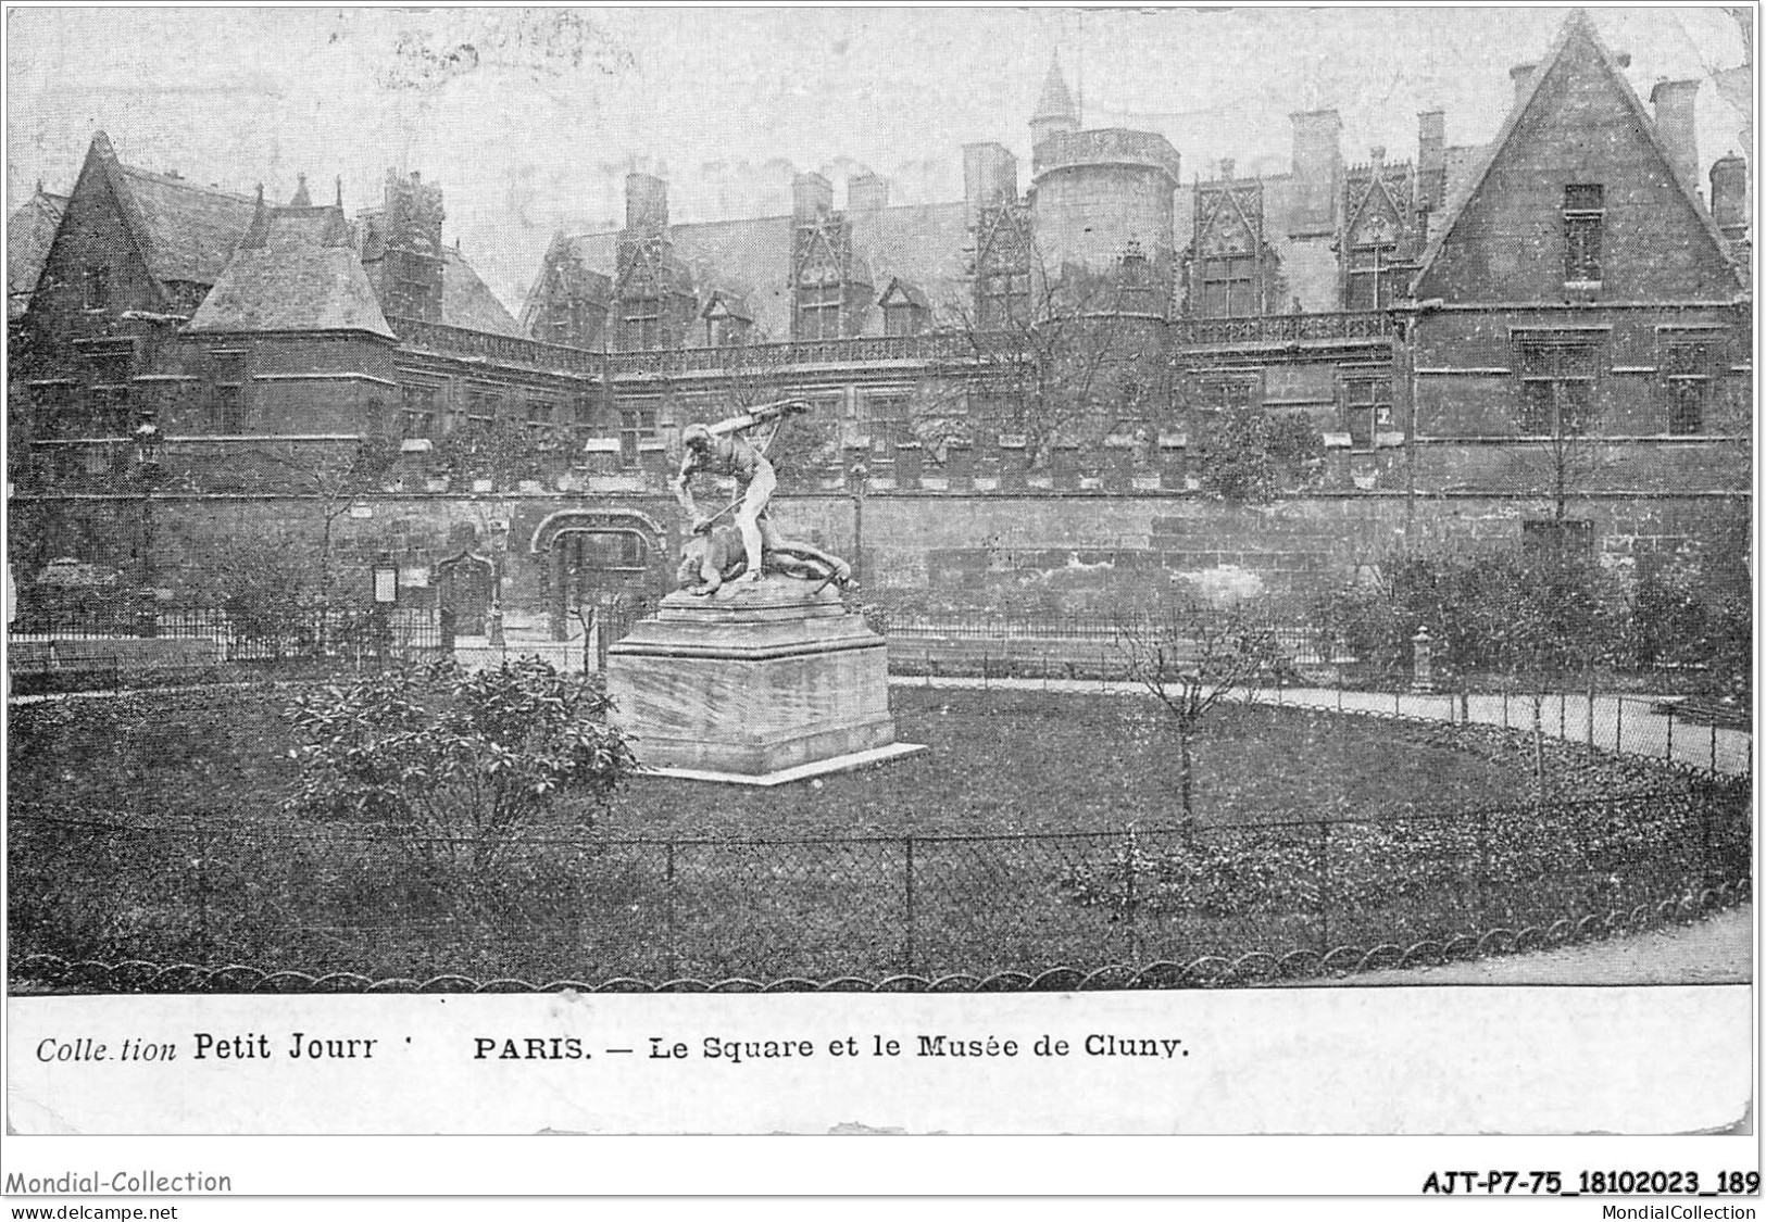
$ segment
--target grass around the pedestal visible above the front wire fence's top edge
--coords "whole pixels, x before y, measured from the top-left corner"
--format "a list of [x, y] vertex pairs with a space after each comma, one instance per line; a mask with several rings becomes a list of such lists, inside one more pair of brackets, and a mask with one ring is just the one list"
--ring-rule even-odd
[[[1137, 696], [901, 687], [897, 736], [929, 751], [814, 784], [743, 789], [645, 777], [599, 823], [620, 837], [991, 835], [1164, 825], [1169, 715]], [[129, 696], [19, 706], [14, 802], [281, 821], [297, 738], [275, 696]], [[643, 756], [643, 743], [639, 743]], [[1513, 759], [1430, 726], [1220, 706], [1196, 747], [1203, 823], [1385, 818], [1526, 796]], [[565, 809], [560, 830], [583, 830]]]

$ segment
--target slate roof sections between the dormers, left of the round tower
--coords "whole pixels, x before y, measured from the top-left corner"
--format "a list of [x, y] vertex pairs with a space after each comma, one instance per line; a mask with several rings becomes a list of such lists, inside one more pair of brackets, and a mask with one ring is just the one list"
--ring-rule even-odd
[[[934, 313], [955, 304], [964, 293], [962, 245], [968, 240], [964, 205], [920, 203], [848, 212], [853, 223], [853, 245], [869, 272], [872, 286], [881, 290], [892, 279], [911, 281], [929, 298]], [[692, 284], [701, 304], [713, 290], [743, 295], [754, 318], [756, 341], [782, 341], [791, 337], [791, 245], [795, 221], [781, 217], [747, 217], [740, 221], [703, 221], [669, 226], [675, 258], [692, 272]], [[611, 275], [618, 233], [560, 235], [546, 258], [546, 267], [565, 256], [576, 256], [583, 267]], [[535, 279], [540, 293], [546, 275]], [[883, 334], [883, 311], [865, 314], [865, 336]], [[535, 316], [535, 297], [528, 298], [523, 318]]]

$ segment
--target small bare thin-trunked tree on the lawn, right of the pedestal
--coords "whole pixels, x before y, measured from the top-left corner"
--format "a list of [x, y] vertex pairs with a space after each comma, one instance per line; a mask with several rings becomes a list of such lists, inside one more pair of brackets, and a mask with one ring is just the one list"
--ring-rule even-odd
[[1185, 821], [1194, 816], [1192, 745], [1203, 719], [1234, 687], [1270, 669], [1273, 629], [1243, 606], [1185, 602], [1118, 629], [1128, 676], [1171, 713], [1178, 731], [1178, 791]]

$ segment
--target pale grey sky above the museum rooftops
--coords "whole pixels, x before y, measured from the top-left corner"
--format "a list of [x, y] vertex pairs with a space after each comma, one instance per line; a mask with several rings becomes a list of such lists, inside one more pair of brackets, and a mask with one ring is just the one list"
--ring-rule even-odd
[[[1595, 7], [1648, 97], [1699, 78], [1701, 178], [1743, 148], [1713, 74], [1745, 60], [1724, 9]], [[5, 191], [69, 191], [97, 131], [148, 170], [286, 201], [343, 178], [380, 201], [389, 168], [443, 187], [459, 240], [519, 311], [553, 235], [618, 228], [623, 175], [669, 180], [673, 221], [788, 210], [793, 173], [874, 171], [894, 203], [957, 200], [962, 145], [1030, 178], [1028, 118], [1060, 55], [1084, 125], [1162, 132], [1183, 178], [1233, 157], [1286, 171], [1289, 115], [1333, 106], [1342, 152], [1415, 157], [1416, 115], [1485, 143], [1568, 9], [743, 7], [64, 9], [5, 25]]]

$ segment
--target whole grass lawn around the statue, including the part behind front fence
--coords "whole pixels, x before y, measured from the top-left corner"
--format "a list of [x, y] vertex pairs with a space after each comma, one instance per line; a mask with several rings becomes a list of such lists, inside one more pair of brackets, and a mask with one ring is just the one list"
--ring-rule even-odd
[[[1646, 902], [1717, 860], [1692, 782], [1642, 761], [1551, 743], [1556, 798], [1679, 796], [1535, 819], [1521, 735], [1243, 705], [1197, 743], [1185, 837], [1151, 701], [906, 687], [897, 728], [920, 756], [777, 789], [643, 777], [593, 826], [565, 805], [494, 876], [466, 878], [286, 812], [284, 701], [16, 706], [14, 964], [48, 950], [532, 982], [1035, 973], [1445, 941]], [[1508, 823], [1473, 814], [1489, 807]], [[1273, 821], [1287, 826], [1256, 826]], [[1722, 860], [1743, 849], [1745, 825]]]

